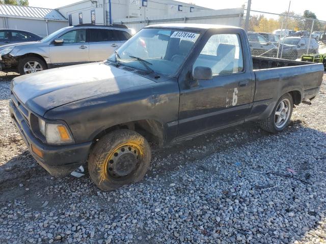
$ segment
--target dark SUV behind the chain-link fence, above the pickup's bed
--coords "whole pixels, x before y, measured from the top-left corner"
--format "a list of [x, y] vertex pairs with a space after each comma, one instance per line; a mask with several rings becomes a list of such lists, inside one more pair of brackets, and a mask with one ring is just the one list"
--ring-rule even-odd
[[[318, 43], [315, 39], [309, 37], [285, 37], [281, 38], [279, 56], [282, 53], [282, 58], [295, 60], [300, 58], [303, 54], [307, 53], [318, 53]], [[283, 48], [282, 48], [283, 47]], [[282, 50], [283, 49], [283, 50]]]

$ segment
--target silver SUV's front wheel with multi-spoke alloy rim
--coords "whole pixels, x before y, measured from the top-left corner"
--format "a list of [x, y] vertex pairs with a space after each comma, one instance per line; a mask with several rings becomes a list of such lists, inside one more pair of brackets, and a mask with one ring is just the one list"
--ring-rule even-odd
[[35, 73], [46, 69], [46, 63], [41, 58], [35, 56], [27, 56], [21, 59], [18, 63], [18, 73], [21, 75]]

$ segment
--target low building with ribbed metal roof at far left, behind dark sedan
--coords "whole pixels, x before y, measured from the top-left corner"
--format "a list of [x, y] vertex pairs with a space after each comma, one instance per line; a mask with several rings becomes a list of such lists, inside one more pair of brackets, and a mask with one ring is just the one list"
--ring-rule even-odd
[[0, 5], [0, 28], [20, 29], [45, 37], [68, 25], [68, 20], [57, 10]]

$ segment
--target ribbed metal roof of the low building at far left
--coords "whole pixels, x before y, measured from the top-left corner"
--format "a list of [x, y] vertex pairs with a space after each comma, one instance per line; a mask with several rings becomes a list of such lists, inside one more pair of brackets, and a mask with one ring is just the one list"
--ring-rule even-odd
[[0, 4], [0, 16], [67, 21], [57, 10]]

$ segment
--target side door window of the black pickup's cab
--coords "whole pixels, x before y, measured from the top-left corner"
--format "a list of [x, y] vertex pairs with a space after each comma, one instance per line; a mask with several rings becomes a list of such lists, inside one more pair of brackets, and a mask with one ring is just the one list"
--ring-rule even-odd
[[211, 68], [213, 76], [243, 71], [243, 56], [237, 34], [217, 34], [209, 38], [199, 54], [197, 66]]

